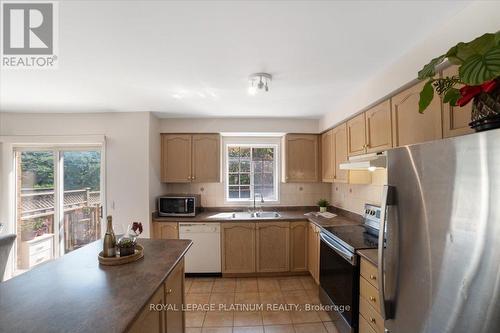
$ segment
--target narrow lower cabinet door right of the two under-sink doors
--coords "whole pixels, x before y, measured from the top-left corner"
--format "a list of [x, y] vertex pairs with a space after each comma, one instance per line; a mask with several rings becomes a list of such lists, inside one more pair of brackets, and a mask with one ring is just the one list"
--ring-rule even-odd
[[307, 226], [309, 222], [290, 222], [290, 271], [307, 271]]

